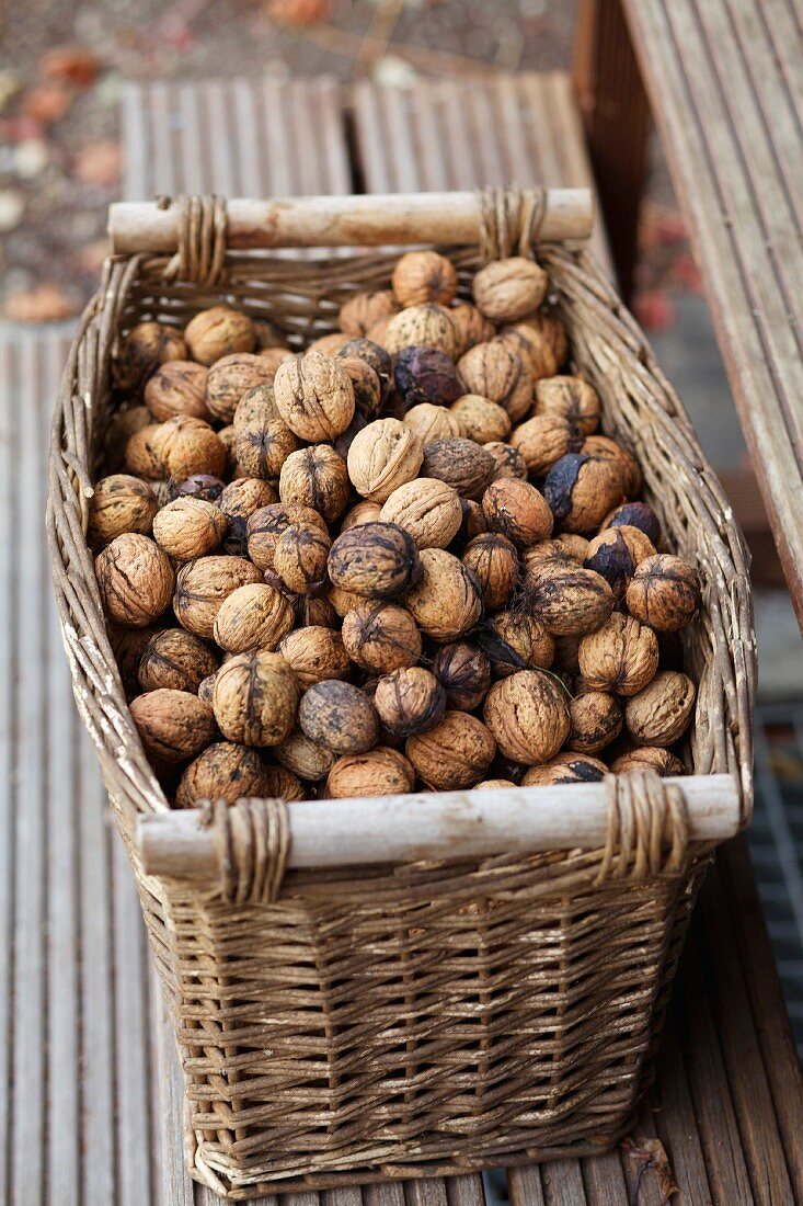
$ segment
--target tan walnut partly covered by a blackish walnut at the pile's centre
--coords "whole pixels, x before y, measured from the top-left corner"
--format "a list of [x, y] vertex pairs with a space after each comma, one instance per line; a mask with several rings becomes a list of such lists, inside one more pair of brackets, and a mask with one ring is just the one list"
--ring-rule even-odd
[[408, 591], [405, 607], [421, 631], [433, 640], [457, 640], [482, 616], [482, 595], [476, 578], [444, 549], [423, 549], [421, 578]]

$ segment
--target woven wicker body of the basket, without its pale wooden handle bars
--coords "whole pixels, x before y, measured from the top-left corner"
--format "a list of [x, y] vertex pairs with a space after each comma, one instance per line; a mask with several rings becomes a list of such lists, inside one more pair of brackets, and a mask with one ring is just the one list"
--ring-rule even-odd
[[[493, 242], [510, 246], [498, 230]], [[477, 250], [449, 253], [467, 286]], [[738, 775], [746, 822], [755, 646], [742, 538], [610, 285], [584, 252], [550, 246], [539, 258], [605, 429], [638, 455], [668, 541], [699, 567], [687, 757], [696, 773]], [[209, 274], [215, 253], [192, 248], [170, 269], [201, 259]], [[229, 253], [223, 280], [201, 287], [165, 281], [165, 258], [111, 260], [53, 425], [47, 528], [76, 699], [176, 1024], [193, 1171], [231, 1199], [609, 1146], [644, 1085], [709, 857], [687, 842], [672, 789], [644, 779], [614, 788], [604, 850], [291, 871], [275, 903], [266, 891], [250, 902], [239, 882], [201, 891], [142, 874], [136, 814], [168, 802], [125, 703], [84, 539], [115, 340], [141, 318], [182, 326], [222, 299], [307, 339], [333, 328], [354, 288], [387, 287], [393, 262]], [[264, 806], [246, 807], [265, 819]]]

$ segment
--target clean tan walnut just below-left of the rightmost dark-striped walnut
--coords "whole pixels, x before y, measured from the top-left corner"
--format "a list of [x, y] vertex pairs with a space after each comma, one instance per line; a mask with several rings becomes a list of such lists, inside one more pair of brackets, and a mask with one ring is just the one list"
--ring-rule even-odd
[[592, 691], [635, 695], [658, 669], [658, 642], [646, 625], [620, 611], [580, 642], [580, 673]]

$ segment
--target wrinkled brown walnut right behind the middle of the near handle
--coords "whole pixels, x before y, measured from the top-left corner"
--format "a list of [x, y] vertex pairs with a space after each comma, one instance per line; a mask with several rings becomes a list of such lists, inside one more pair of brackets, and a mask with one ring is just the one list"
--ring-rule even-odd
[[497, 745], [481, 720], [446, 712], [434, 728], [408, 738], [405, 753], [416, 773], [435, 791], [471, 788], [493, 762]]

